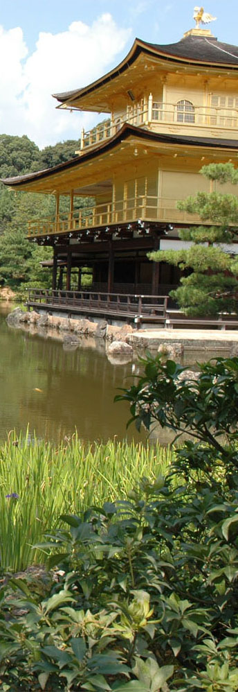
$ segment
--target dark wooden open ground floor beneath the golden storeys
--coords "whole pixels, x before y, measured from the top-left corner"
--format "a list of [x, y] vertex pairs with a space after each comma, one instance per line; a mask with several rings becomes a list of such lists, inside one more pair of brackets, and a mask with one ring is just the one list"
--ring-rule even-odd
[[149, 260], [147, 253], [157, 248], [157, 238], [59, 245], [54, 248], [52, 287], [83, 290], [87, 275], [95, 291], [158, 295], [162, 287], [177, 286], [180, 273]]

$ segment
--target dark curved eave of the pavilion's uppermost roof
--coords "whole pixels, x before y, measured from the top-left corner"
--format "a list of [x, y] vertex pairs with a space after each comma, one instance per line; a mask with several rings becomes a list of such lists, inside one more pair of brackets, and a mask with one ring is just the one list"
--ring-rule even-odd
[[[178, 43], [182, 43], [183, 40]], [[122, 60], [122, 62], [120, 62], [117, 65], [117, 67], [114, 67], [104, 76], [100, 77], [98, 80], [95, 80], [95, 82], [92, 82], [86, 87], [83, 87], [82, 89], [74, 89], [71, 92], [63, 92], [62, 94], [52, 94], [53, 98], [56, 98], [57, 101], [59, 101], [59, 103], [61, 104], [73, 105], [75, 101], [79, 100], [80, 98], [83, 98], [87, 94], [91, 94], [91, 92], [94, 92], [96, 89], [101, 88], [110, 80], [113, 80], [114, 78], [118, 77], [120, 74], [125, 72], [125, 70], [127, 70], [127, 68], [136, 61], [136, 58], [138, 58], [138, 55], [140, 55], [141, 52], [145, 53], [146, 55], [152, 55], [156, 58], [161, 58], [161, 60], [166, 60], [167, 62], [171, 62], [172, 64], [190, 64], [196, 66], [201, 65], [204, 68], [212, 69], [238, 69], [237, 56], [234, 56], [235, 58], [237, 58], [237, 64], [232, 64], [226, 61], [218, 62], [216, 60], [201, 60], [201, 58], [194, 58], [193, 55], [190, 55], [190, 57], [183, 55], [173, 55], [172, 53], [170, 53], [169, 50], [166, 50], [166, 46], [164, 46], [164, 48], [162, 49], [161, 46], [155, 46], [154, 44], [150, 44], [136, 38], [134, 44], [131, 46], [131, 50], [129, 51], [129, 53], [127, 53], [124, 60]], [[226, 51], [223, 51], [223, 54], [225, 55]]]

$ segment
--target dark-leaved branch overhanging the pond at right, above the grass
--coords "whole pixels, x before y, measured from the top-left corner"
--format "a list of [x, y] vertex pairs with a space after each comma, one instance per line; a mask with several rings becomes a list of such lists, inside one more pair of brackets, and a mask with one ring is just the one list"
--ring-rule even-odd
[[140, 358], [145, 375], [117, 401], [129, 401], [140, 430], [154, 422], [181, 435], [188, 433], [238, 467], [238, 358], [200, 363], [199, 377], [183, 375], [185, 367], [147, 354]]

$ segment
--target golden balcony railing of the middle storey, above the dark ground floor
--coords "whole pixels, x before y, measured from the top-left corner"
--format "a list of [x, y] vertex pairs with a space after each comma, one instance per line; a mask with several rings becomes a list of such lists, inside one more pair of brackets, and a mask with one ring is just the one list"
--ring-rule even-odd
[[[155, 220], [167, 223], [201, 222], [198, 214], [178, 211], [176, 205], [177, 200], [139, 195], [95, 207], [82, 207], [82, 209], [77, 209], [70, 214], [57, 216], [55, 219], [46, 217], [30, 220], [28, 222], [28, 237], [60, 236], [60, 234], [80, 231], [90, 235], [91, 229], [98, 232], [100, 227], [133, 223], [139, 219], [141, 222]], [[115, 233], [118, 233], [117, 228]]]

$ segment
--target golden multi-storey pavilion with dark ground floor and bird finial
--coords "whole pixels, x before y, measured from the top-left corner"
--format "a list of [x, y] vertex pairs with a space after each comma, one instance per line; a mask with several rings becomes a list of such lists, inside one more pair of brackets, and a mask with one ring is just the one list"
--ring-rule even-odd
[[[238, 47], [219, 42], [194, 18], [196, 28], [177, 43], [136, 38], [109, 73], [54, 94], [58, 108], [99, 112], [100, 123], [82, 130], [70, 161], [4, 180], [14, 190], [55, 195], [54, 218], [28, 226], [29, 241], [53, 246], [52, 292], [45, 301], [41, 294], [42, 306], [135, 318], [138, 296], [155, 306], [178, 285], [178, 268], [149, 261], [147, 253], [178, 248], [178, 230], [201, 223], [177, 209], [178, 200], [209, 190], [201, 166], [237, 165], [238, 157]], [[66, 215], [62, 195], [69, 198]], [[78, 208], [77, 198], [86, 205]], [[159, 310], [151, 313], [155, 319]]]

